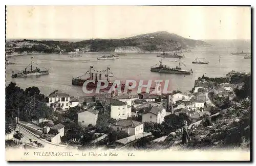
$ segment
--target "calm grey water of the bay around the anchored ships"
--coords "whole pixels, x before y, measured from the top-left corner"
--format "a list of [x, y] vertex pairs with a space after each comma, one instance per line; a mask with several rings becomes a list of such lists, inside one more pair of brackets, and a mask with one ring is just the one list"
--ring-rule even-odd
[[[194, 81], [206, 74], [208, 77], [222, 77], [231, 70], [240, 72], [250, 72], [251, 60], [244, 59], [244, 56], [231, 55], [237, 51], [250, 52], [250, 41], [242, 40], [210, 40], [207, 41], [214, 46], [206, 48], [196, 48], [192, 52], [184, 53], [185, 58], [182, 59], [184, 65], [182, 69], [193, 69], [193, 75], [173, 75], [159, 74], [150, 72], [151, 66], [158, 63], [161, 58], [156, 54], [126, 54], [127, 56], [119, 56], [116, 60], [97, 60], [102, 56], [100, 53], [81, 54], [81, 58], [69, 58], [68, 55], [31, 55], [15, 56], [8, 58], [9, 61], [18, 62], [17, 65], [6, 66], [6, 84], [11, 81], [22, 88], [36, 86], [41, 93], [49, 95], [54, 90], [61, 90], [72, 96], [85, 96], [81, 87], [72, 86], [72, 77], [81, 76], [87, 72], [89, 67], [93, 65], [97, 70], [104, 70], [110, 67], [115, 79], [168, 79], [170, 89], [188, 92], [194, 87]], [[105, 54], [108, 55], [108, 54]], [[209, 64], [192, 64], [195, 58], [205, 58]], [[219, 57], [221, 60], [219, 61]], [[33, 78], [11, 78], [12, 70], [22, 70], [31, 60], [39, 65], [40, 68], [46, 67], [50, 69], [50, 74]], [[162, 63], [170, 67], [178, 65], [176, 58], [162, 58]], [[83, 78], [87, 78], [84, 76]]]

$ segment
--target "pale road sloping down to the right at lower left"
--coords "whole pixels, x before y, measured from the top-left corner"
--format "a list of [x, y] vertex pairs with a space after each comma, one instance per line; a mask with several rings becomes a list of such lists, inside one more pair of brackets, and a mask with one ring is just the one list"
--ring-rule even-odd
[[45, 148], [50, 148], [50, 149], [66, 149], [65, 147], [60, 147], [60, 146], [56, 146], [56, 145], [52, 145], [49, 144], [39, 138], [37, 138], [35, 135], [33, 135], [32, 133], [30, 133], [29, 131], [27, 131], [26, 129], [24, 129], [23, 127], [20, 127], [19, 125], [17, 125], [16, 130], [20, 131], [20, 133], [22, 133], [24, 135], [24, 137], [21, 139], [22, 143], [27, 143], [30, 144], [30, 138], [32, 140], [36, 140], [38, 143], [42, 144], [45, 146]]

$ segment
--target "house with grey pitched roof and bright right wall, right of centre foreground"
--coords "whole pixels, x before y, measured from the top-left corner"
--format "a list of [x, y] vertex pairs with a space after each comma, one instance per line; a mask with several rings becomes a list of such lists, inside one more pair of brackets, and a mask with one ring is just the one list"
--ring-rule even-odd
[[148, 107], [142, 114], [142, 123], [153, 122], [161, 124], [166, 116], [166, 110], [162, 106]]

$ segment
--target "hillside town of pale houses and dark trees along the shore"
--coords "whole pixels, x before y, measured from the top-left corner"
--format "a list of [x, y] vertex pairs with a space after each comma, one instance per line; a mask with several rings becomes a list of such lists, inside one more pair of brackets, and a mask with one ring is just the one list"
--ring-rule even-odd
[[190, 93], [162, 93], [159, 87], [157, 93], [90, 97], [55, 90], [46, 97], [37, 87], [23, 90], [11, 82], [6, 86], [6, 146], [163, 149], [180, 145], [185, 121], [191, 138], [186, 148], [230, 146], [226, 139], [248, 148], [250, 83], [250, 74], [232, 71], [222, 78], [203, 75]]

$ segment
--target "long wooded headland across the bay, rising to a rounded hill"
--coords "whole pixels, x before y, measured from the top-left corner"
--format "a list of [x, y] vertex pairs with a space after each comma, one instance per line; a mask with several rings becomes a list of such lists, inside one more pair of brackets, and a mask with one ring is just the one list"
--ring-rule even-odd
[[13, 40], [6, 43], [7, 54], [72, 52], [154, 53], [180, 51], [198, 46], [209, 46], [201, 41], [184, 38], [166, 31], [147, 33], [122, 39], [90, 39], [78, 42], [53, 40]]

